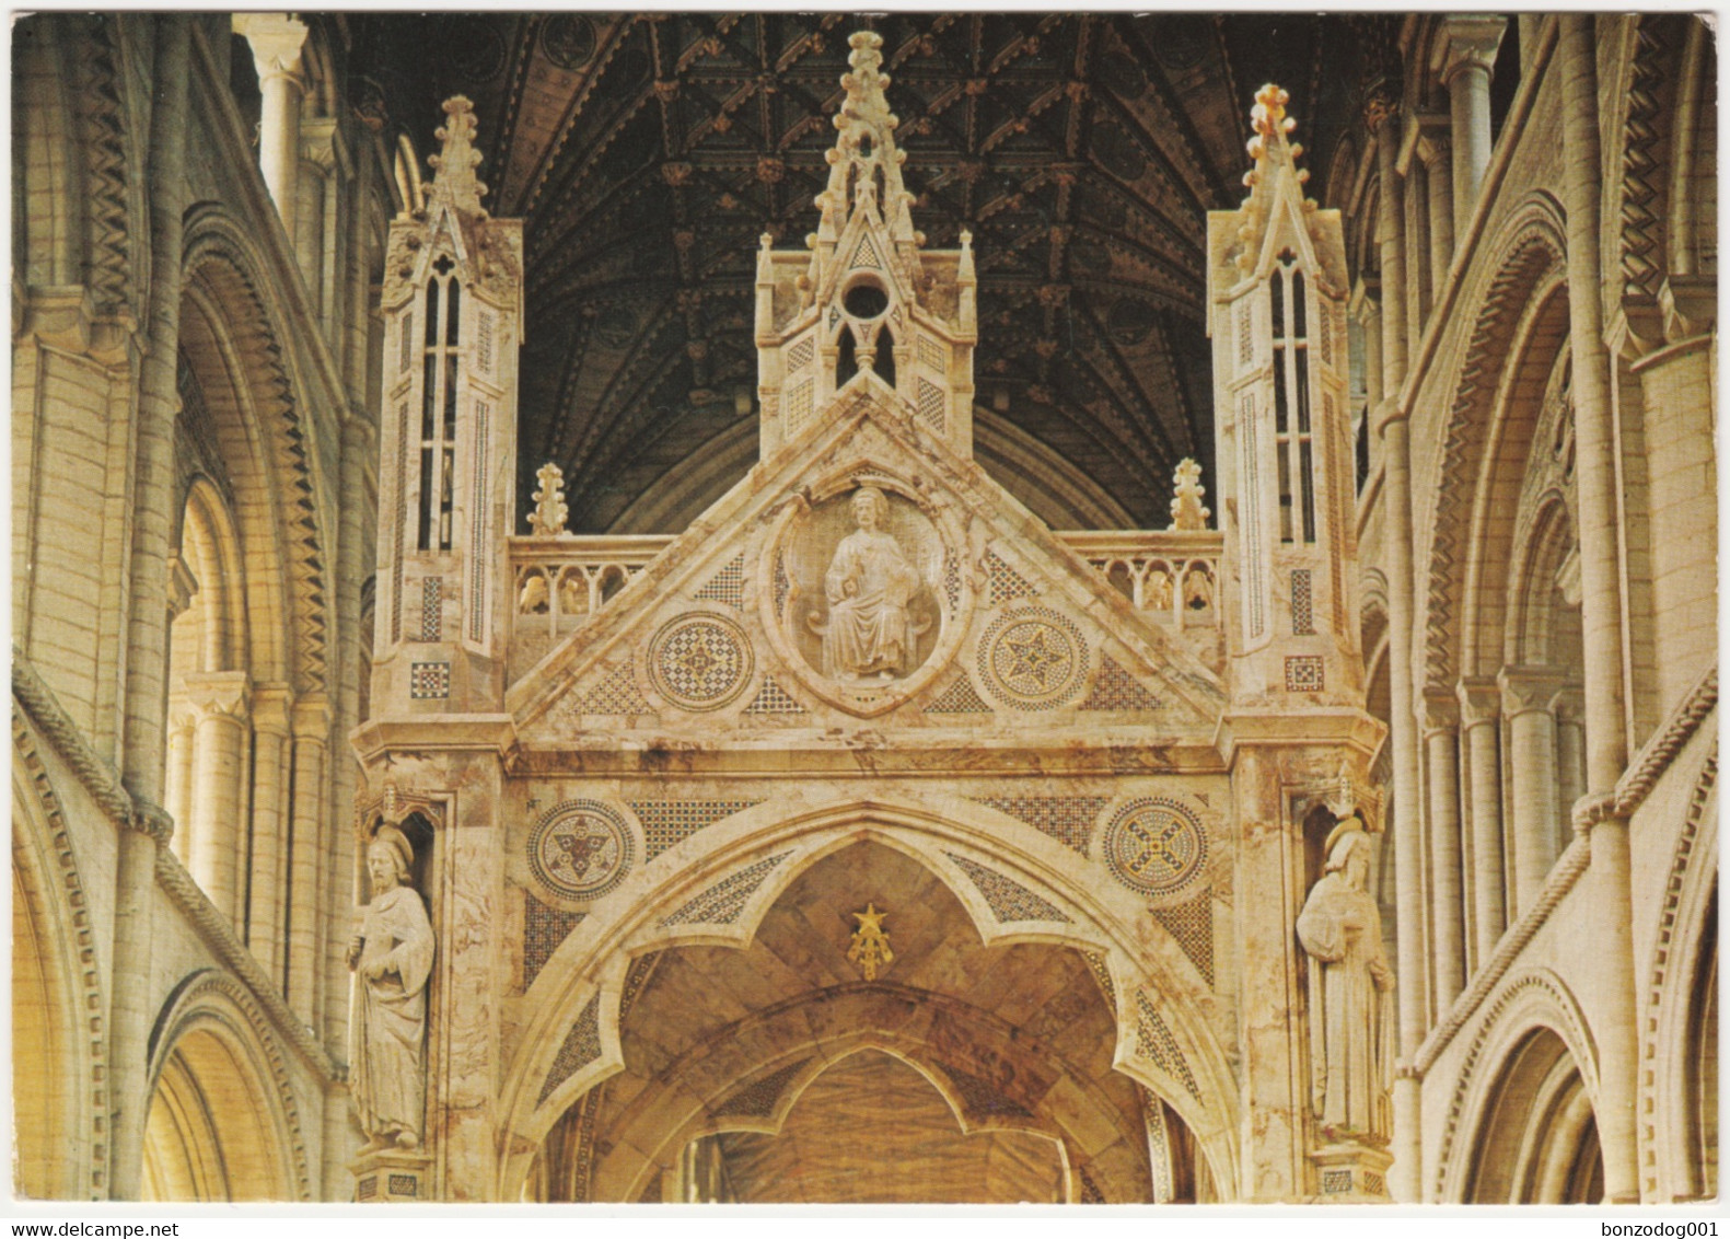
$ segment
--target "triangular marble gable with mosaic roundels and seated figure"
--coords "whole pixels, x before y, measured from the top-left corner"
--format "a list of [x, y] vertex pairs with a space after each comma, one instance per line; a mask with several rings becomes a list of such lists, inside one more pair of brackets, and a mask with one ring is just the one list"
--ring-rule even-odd
[[1206, 739], [1221, 703], [1201, 659], [984, 471], [856, 388], [827, 433], [759, 465], [507, 704], [538, 748], [860, 720]]

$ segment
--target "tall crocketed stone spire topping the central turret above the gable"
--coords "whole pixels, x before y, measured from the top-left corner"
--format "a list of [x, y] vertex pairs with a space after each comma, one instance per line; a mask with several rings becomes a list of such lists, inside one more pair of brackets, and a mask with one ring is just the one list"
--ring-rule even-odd
[[882, 73], [882, 36], [870, 29], [848, 36], [849, 71], [841, 74], [848, 97], [836, 112], [836, 145], [829, 151], [829, 185], [817, 196], [823, 211], [823, 232], [841, 235], [855, 211], [870, 204], [889, 227], [894, 241], [913, 242], [913, 223], [907, 208], [913, 196], [901, 185], [903, 151], [894, 149], [894, 128], [901, 123], [889, 111]]

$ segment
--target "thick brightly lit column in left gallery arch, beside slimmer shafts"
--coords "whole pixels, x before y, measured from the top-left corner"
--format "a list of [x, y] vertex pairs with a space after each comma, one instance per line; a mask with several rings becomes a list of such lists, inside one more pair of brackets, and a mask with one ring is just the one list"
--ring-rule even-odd
[[246, 671], [187, 675], [187, 699], [197, 718], [192, 734], [192, 822], [187, 867], [239, 929], [240, 858], [246, 853], [244, 805], [247, 704]]

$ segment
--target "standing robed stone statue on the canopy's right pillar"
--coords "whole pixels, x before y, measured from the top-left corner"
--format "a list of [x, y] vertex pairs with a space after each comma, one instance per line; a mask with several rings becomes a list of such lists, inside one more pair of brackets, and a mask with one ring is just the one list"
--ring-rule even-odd
[[1298, 914], [1310, 955], [1311, 1101], [1329, 1139], [1389, 1133], [1394, 973], [1368, 877], [1370, 836], [1353, 813], [1327, 836], [1322, 881]]

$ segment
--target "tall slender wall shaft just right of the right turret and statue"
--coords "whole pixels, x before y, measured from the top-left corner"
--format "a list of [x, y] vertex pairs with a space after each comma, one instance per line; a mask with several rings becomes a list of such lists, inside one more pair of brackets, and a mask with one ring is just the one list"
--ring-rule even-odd
[[[1424, 820], [1417, 786], [1417, 716], [1412, 703], [1412, 453], [1410, 426], [1400, 405], [1400, 388], [1406, 370], [1405, 334], [1405, 237], [1401, 235], [1400, 123], [1391, 88], [1372, 93], [1365, 106], [1365, 123], [1375, 133], [1381, 211], [1377, 232], [1382, 247], [1382, 393], [1375, 412], [1386, 460], [1382, 505], [1387, 514], [1387, 685], [1394, 768], [1394, 872], [1406, 889], [1424, 889]], [[1400, 900], [1394, 936], [1400, 945], [1400, 1061], [1394, 1080], [1394, 1166], [1389, 1175], [1393, 1197], [1401, 1203], [1422, 1199], [1422, 1094], [1410, 1073], [1424, 1042], [1424, 907], [1420, 900]]]

